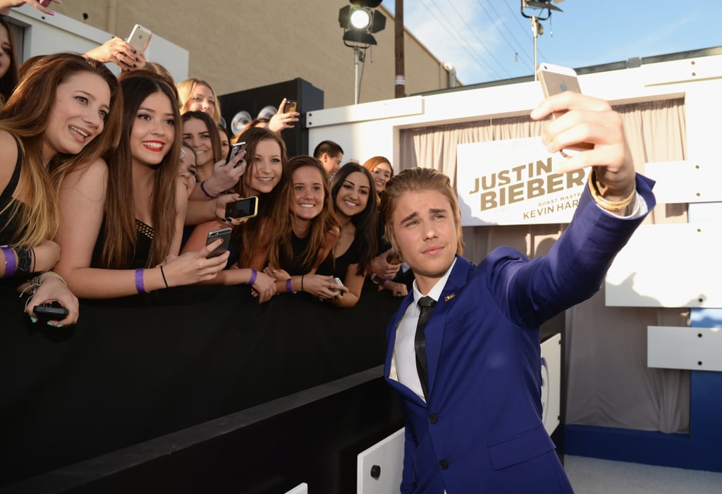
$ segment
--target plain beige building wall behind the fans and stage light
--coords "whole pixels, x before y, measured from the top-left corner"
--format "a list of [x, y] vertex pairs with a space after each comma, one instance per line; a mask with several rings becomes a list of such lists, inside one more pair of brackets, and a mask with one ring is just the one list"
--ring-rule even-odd
[[[300, 77], [323, 90], [329, 108], [354, 102], [354, 50], [344, 45], [338, 22], [345, 5], [345, 0], [72, 0], [53, 9], [80, 21], [86, 13], [87, 24], [121, 38], [136, 23], [148, 27], [186, 48], [188, 76], [206, 79], [217, 94]], [[375, 33], [378, 45], [367, 50], [360, 102], [395, 94], [393, 17], [381, 9], [386, 29]], [[408, 32], [404, 45], [406, 94], [448, 86], [442, 61]]]

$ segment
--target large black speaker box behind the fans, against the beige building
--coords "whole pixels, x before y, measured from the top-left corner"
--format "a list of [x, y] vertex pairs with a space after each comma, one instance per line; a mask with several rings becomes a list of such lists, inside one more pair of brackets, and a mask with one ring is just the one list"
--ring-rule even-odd
[[[269, 105], [278, 107], [284, 98], [298, 102], [297, 111], [301, 114], [294, 128], [287, 128], [281, 132], [288, 156], [308, 154], [305, 113], [323, 109], [323, 91], [300, 78], [220, 95], [221, 114], [226, 122], [226, 128], [230, 131], [230, 123], [236, 113], [245, 110], [251, 118], [256, 118], [261, 109]], [[313, 152], [313, 149], [310, 151]]]

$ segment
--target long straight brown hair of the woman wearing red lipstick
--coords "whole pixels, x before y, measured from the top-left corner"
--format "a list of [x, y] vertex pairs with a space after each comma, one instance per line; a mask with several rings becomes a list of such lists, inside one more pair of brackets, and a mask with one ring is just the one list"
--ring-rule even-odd
[[175, 234], [176, 190], [178, 167], [181, 159], [181, 114], [173, 87], [161, 76], [144, 72], [142, 76], [129, 76], [121, 81], [125, 101], [121, 143], [118, 150], [105, 156], [108, 162], [108, 192], [105, 199], [105, 242], [101, 263], [104, 268], [126, 268], [135, 248], [137, 234], [133, 192], [132, 156], [130, 137], [136, 122], [138, 108], [151, 94], [161, 92], [168, 97], [173, 108], [175, 133], [173, 145], [155, 172], [152, 197], [149, 198], [153, 222], [153, 241], [146, 262], [148, 268], [160, 263], [170, 254]]

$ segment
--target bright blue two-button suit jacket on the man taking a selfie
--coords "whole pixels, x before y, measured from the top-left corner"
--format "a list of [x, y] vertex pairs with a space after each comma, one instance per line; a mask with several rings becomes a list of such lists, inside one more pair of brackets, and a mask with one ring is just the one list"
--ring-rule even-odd
[[[651, 211], [653, 182], [637, 177]], [[457, 256], [427, 324], [428, 402], [388, 379], [406, 420], [402, 493], [571, 493], [541, 422], [539, 327], [599, 290], [614, 255], [643, 221], [601, 211], [584, 189], [549, 255], [500, 247], [474, 266]]]

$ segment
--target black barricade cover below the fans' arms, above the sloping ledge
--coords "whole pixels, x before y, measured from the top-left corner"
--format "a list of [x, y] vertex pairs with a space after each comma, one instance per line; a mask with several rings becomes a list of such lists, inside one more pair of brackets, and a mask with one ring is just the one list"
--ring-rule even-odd
[[2, 291], [0, 485], [378, 366], [399, 302], [370, 284], [352, 309], [170, 288], [83, 302], [57, 329]]

